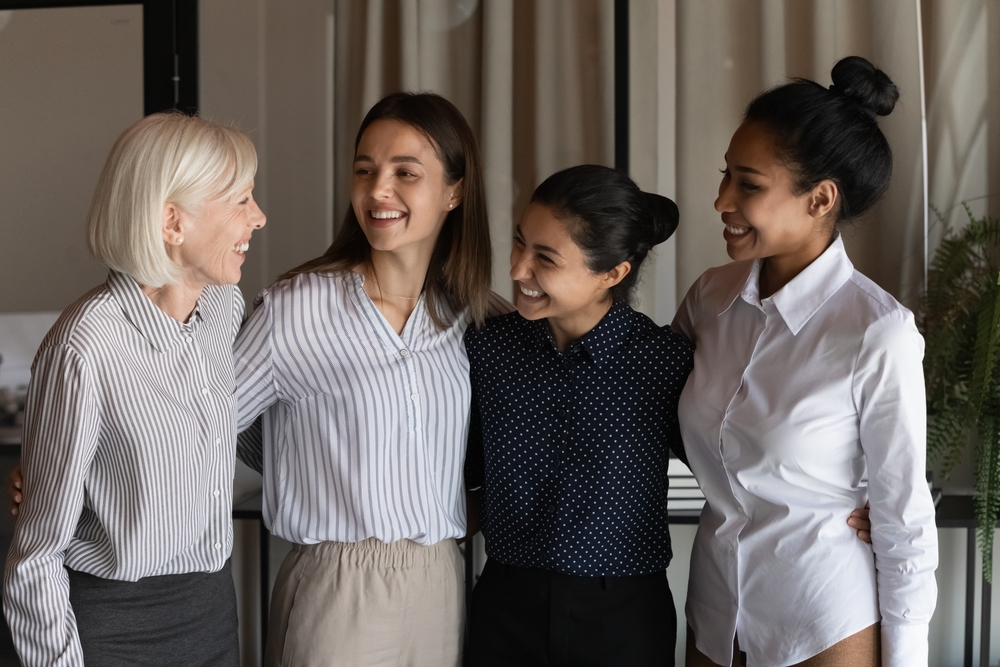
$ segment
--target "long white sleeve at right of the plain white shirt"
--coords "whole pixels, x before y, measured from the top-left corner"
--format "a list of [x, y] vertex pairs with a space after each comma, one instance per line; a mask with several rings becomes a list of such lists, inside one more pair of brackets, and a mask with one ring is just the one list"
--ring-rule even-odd
[[884, 667], [927, 664], [937, 598], [937, 529], [924, 472], [923, 349], [913, 316], [894, 311], [868, 328], [853, 381], [868, 465]]

